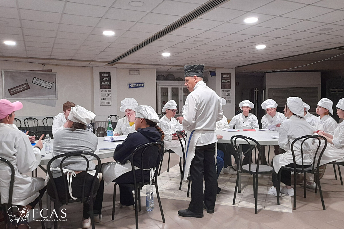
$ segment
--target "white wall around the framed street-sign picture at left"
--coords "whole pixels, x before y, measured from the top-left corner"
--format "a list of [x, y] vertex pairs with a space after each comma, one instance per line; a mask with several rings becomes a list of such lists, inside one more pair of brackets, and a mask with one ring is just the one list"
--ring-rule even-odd
[[[0, 69], [3, 70], [40, 70], [42, 64], [32, 64], [17, 61], [0, 61]], [[66, 101], [74, 102], [87, 110], [93, 110], [93, 72], [90, 67], [69, 67], [45, 65], [44, 69], [52, 69], [57, 72], [57, 100], [51, 101], [51, 106], [33, 103], [32, 100], [20, 100], [23, 109], [16, 111], [19, 119], [36, 117], [42, 119], [47, 116], [55, 116], [62, 112], [62, 105]], [[2, 79], [0, 98], [3, 98]], [[14, 102], [15, 100], [10, 100]]]

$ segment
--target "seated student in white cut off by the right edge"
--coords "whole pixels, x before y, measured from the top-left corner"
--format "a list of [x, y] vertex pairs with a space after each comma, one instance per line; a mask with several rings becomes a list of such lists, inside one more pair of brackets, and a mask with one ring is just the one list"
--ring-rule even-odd
[[[339, 118], [344, 118], [344, 98], [340, 99], [336, 105], [337, 115]], [[344, 161], [344, 122], [341, 122], [334, 130], [334, 134], [326, 132], [318, 132], [319, 135], [324, 136], [327, 140], [326, 149], [321, 157], [320, 166], [332, 161]], [[323, 142], [319, 148], [319, 152], [315, 158], [315, 164], [318, 163], [320, 152], [323, 149]], [[319, 169], [320, 170], [320, 169]], [[323, 172], [322, 172], [323, 173]], [[319, 175], [321, 178], [321, 174]], [[314, 174], [306, 173], [306, 187], [315, 189]]]

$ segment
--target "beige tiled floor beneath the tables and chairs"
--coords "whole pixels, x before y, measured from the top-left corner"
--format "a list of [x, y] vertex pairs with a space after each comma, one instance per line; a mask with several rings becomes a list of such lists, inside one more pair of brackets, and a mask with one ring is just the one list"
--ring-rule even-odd
[[[103, 161], [103, 160], [102, 160]], [[105, 162], [105, 161], [104, 161]], [[170, 167], [179, 163], [179, 158], [171, 154]], [[164, 161], [162, 171], [167, 169], [167, 160]], [[172, 171], [171, 171], [172, 172]], [[170, 172], [170, 173], [171, 173]], [[41, 174], [43, 175], [43, 174]], [[178, 175], [178, 174], [176, 174]], [[230, 175], [228, 175], [229, 177]], [[177, 176], [178, 178], [178, 176]], [[235, 176], [233, 176], [235, 178]], [[161, 178], [161, 182], [164, 178]], [[225, 179], [222, 176], [221, 179]], [[338, 178], [339, 179], [339, 178]], [[178, 179], [179, 180], [179, 179]], [[233, 185], [235, 181], [230, 178], [226, 185]], [[268, 178], [261, 179], [259, 186], [267, 187]], [[166, 181], [167, 182], [167, 181]], [[176, 182], [176, 181], [175, 181]], [[221, 182], [220, 182], [221, 183]], [[251, 184], [251, 181], [249, 181]], [[334, 179], [332, 167], [327, 167], [325, 175], [321, 180], [326, 210], [322, 210], [320, 195], [314, 191], [307, 190], [307, 198], [303, 198], [303, 189], [298, 186], [296, 210], [292, 213], [276, 210], [258, 210], [258, 214], [254, 214], [254, 209], [246, 207], [236, 207], [232, 205], [215, 205], [215, 213], [207, 214], [204, 211], [203, 218], [183, 218], [178, 216], [179, 209], [185, 209], [189, 205], [189, 201], [177, 199], [177, 197], [169, 196], [161, 198], [162, 207], [165, 215], [165, 223], [162, 223], [159, 205], [154, 199], [154, 210], [147, 212], [142, 209], [139, 212], [139, 228], [141, 229], [203, 229], [203, 228], [239, 228], [239, 229], [336, 229], [344, 228], [344, 186], [340, 185], [339, 180]], [[159, 184], [160, 185], [160, 184]], [[163, 184], [161, 184], [163, 186]], [[178, 189], [174, 187], [173, 190]], [[184, 184], [185, 186], [185, 184]], [[183, 188], [185, 188], [183, 186]], [[252, 192], [252, 188], [249, 188]], [[112, 210], [112, 192], [113, 185], [105, 187], [104, 203], [103, 203], [103, 221], [96, 223], [96, 229], [105, 228], [135, 228], [135, 211], [123, 209], [116, 203], [115, 220], [111, 220]], [[160, 191], [163, 192], [162, 189]], [[185, 192], [186, 193], [186, 192]], [[245, 191], [243, 192], [245, 194]], [[243, 195], [244, 195], [243, 194]], [[117, 199], [119, 193], [117, 191]], [[161, 197], [163, 197], [161, 195]], [[171, 198], [172, 197], [172, 198]], [[228, 198], [233, 198], [232, 193], [228, 194]], [[252, 198], [252, 195], [248, 195]], [[268, 198], [268, 197], [267, 197]], [[45, 198], [44, 198], [45, 199]], [[271, 205], [273, 205], [271, 199]], [[218, 200], [219, 201], [219, 200]], [[293, 201], [293, 198], [290, 200]], [[241, 202], [241, 201], [240, 201]], [[240, 203], [238, 202], [238, 203]], [[142, 195], [141, 203], [145, 203], [145, 197]], [[266, 202], [267, 203], [267, 202]], [[45, 203], [43, 203], [45, 206]], [[266, 205], [266, 204], [265, 204]], [[277, 206], [277, 205], [276, 205]], [[61, 222], [60, 228], [79, 228], [81, 227], [82, 206], [80, 204], [69, 204], [65, 206], [67, 213], [67, 222]], [[40, 223], [32, 222], [31, 228], [40, 228]]]

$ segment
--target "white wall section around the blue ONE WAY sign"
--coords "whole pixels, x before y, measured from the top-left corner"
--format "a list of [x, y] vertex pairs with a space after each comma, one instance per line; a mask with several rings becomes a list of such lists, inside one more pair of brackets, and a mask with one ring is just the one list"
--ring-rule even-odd
[[[149, 105], [156, 110], [157, 86], [155, 82], [155, 69], [138, 69], [140, 75], [129, 75], [129, 70], [117, 68], [117, 115], [120, 117], [124, 116], [124, 113], [119, 111], [120, 102], [128, 97], [136, 99], [139, 105]], [[141, 82], [144, 82], [144, 88], [129, 89], [129, 83]]]

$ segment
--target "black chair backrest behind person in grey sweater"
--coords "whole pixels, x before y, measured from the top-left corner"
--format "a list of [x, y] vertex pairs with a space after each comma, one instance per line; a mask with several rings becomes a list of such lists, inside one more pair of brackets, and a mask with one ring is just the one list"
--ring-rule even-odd
[[[54, 182], [54, 178], [53, 178], [53, 175], [51, 173], [51, 170], [50, 170], [50, 165], [53, 161], [55, 161], [56, 159], [58, 158], [62, 158], [64, 157], [61, 162], [60, 162], [60, 172], [62, 174], [62, 176], [65, 176], [64, 173], [63, 173], [63, 162], [69, 158], [69, 157], [82, 157], [86, 160], [86, 163], [87, 163], [87, 166], [86, 166], [86, 169], [85, 171], [88, 171], [88, 167], [89, 167], [89, 161], [88, 159], [86, 158], [85, 155], [89, 155], [89, 156], [93, 156], [94, 158], [96, 158], [96, 160], [98, 161], [98, 165], [101, 164], [101, 161], [100, 161], [100, 158], [94, 154], [94, 153], [88, 153], [88, 152], [69, 152], [69, 153], [63, 153], [63, 154], [60, 154], [60, 155], [57, 155], [55, 157], [53, 157], [52, 159], [50, 159], [50, 161], [48, 162], [47, 166], [46, 166], [46, 169], [47, 169], [47, 172], [49, 174], [49, 178], [51, 180], [51, 183], [52, 183], [52, 186], [54, 188], [54, 193], [55, 193], [55, 200], [57, 202], [60, 202], [59, 199], [58, 199], [58, 193], [57, 193], [57, 188], [56, 188], [56, 185], [55, 185], [55, 182]], [[76, 201], [77, 202], [81, 202], [83, 203], [85, 198], [89, 197], [90, 198], [90, 203], [93, 203], [93, 190], [94, 190], [94, 185], [95, 185], [95, 182], [97, 180], [97, 176], [98, 176], [98, 173], [100, 171], [100, 167], [101, 166], [98, 166], [97, 169], [96, 169], [96, 173], [94, 175], [94, 179], [93, 179], [93, 182], [92, 182], [92, 186], [91, 186], [91, 189], [90, 189], [90, 193], [86, 193], [86, 196], [85, 196], [85, 182], [86, 182], [86, 176], [84, 178], [84, 183], [83, 183], [83, 190], [82, 190], [82, 197], [77, 199]], [[66, 182], [66, 179], [63, 179], [64, 181], [64, 191], [65, 191], [65, 199], [63, 200], [65, 202], [65, 204], [68, 204], [68, 186], [67, 186], [67, 182]], [[61, 189], [62, 187], [58, 187], [59, 189]], [[71, 199], [69, 199], [71, 200]], [[73, 201], [75, 202], [75, 201]], [[61, 203], [61, 202], [60, 202]]]

